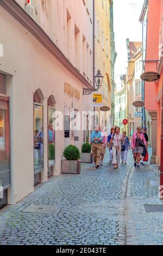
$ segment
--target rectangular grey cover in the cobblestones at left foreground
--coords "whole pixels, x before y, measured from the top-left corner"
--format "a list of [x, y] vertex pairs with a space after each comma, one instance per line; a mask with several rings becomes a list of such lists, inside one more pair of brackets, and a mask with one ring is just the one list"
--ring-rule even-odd
[[22, 212], [30, 212], [36, 214], [53, 214], [57, 210], [58, 205], [36, 205], [30, 204], [22, 210]]

